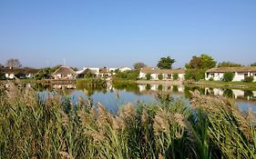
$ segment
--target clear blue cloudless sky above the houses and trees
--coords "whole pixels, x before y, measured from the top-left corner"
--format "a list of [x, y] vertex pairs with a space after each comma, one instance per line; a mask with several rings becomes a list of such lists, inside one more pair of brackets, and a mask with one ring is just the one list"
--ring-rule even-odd
[[183, 67], [202, 53], [256, 62], [256, 0], [0, 0], [0, 64]]

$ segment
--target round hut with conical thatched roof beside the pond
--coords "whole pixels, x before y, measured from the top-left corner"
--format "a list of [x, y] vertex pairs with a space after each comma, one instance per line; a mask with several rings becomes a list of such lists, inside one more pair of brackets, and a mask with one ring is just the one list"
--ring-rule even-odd
[[61, 66], [53, 73], [53, 76], [54, 79], [76, 79], [77, 73], [68, 66]]

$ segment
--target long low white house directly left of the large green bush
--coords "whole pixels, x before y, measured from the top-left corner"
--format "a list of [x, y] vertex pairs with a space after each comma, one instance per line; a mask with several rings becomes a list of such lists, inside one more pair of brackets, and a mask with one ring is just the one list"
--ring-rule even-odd
[[151, 80], [159, 80], [159, 75], [163, 75], [163, 80], [173, 80], [173, 75], [177, 74], [179, 81], [184, 80], [185, 69], [156, 69], [144, 67], [140, 70], [138, 78], [146, 79], [146, 75], [151, 76]]

